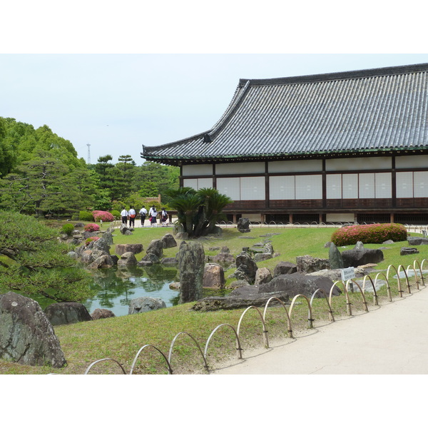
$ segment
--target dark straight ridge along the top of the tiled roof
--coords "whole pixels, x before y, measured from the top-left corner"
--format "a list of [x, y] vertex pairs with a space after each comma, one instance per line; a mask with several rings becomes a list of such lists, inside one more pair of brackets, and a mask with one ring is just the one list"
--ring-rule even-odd
[[335, 73], [307, 74], [303, 76], [289, 76], [277, 78], [240, 78], [240, 86], [250, 83], [251, 86], [282, 85], [289, 83], [314, 83], [321, 81], [333, 81], [349, 78], [365, 78], [374, 76], [391, 76], [392, 74], [416, 73], [428, 71], [428, 63], [411, 64], [408, 66], [389, 66], [381, 68], [369, 68], [366, 70], [337, 71]]

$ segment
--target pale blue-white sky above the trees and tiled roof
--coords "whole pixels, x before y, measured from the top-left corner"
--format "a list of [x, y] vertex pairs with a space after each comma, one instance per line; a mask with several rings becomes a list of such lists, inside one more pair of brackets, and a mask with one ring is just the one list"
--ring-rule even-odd
[[208, 131], [240, 78], [428, 63], [428, 54], [1, 54], [0, 116], [47, 125], [91, 163]]

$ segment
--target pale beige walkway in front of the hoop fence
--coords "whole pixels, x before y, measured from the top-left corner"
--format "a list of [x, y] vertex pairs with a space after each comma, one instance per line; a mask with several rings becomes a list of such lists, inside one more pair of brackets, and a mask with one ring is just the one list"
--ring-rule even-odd
[[427, 288], [369, 310], [244, 352], [212, 374], [428, 374]]

